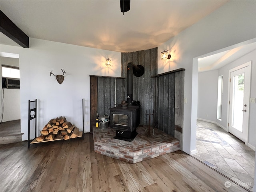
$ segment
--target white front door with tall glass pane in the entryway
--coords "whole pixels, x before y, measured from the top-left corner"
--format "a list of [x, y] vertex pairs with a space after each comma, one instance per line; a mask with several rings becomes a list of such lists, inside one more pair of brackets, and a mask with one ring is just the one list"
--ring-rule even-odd
[[230, 72], [230, 99], [228, 131], [248, 142], [251, 62], [238, 66]]

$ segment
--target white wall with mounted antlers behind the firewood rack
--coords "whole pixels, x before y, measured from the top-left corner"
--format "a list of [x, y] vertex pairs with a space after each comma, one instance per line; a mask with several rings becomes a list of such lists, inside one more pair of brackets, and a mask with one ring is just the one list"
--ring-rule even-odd
[[[82, 129], [82, 98], [85, 122], [90, 121], [90, 76], [121, 76], [121, 54], [30, 38], [30, 48], [1, 45], [2, 52], [20, 55], [20, 109], [22, 140], [28, 139], [28, 100], [38, 99], [39, 130], [51, 119], [66, 119]], [[106, 68], [106, 58], [112, 66]], [[50, 72], [62, 74], [58, 84]], [[90, 126], [85, 123], [85, 132]], [[31, 136], [33, 133], [31, 134]], [[32, 138], [31, 138], [32, 139]]]

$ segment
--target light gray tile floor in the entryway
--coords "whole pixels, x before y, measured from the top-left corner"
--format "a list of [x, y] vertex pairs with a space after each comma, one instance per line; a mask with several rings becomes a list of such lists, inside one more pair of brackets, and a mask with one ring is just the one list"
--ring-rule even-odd
[[255, 151], [244, 142], [214, 123], [198, 120], [196, 148], [195, 158], [253, 190]]

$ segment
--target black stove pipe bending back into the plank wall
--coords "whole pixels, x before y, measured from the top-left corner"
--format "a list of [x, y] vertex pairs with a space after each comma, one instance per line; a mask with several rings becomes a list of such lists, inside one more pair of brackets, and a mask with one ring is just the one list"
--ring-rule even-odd
[[144, 67], [141, 65], [134, 65], [132, 62], [127, 64], [127, 103], [132, 105], [132, 93], [133, 93], [133, 77], [140, 77], [144, 74]]

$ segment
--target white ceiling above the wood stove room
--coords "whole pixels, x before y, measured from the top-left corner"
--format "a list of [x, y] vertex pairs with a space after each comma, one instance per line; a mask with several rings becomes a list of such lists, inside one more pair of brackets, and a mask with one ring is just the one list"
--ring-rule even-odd
[[[159, 46], [227, 1], [1, 0], [0, 9], [31, 38], [116, 52]], [[18, 46], [1, 33], [1, 44]]]

